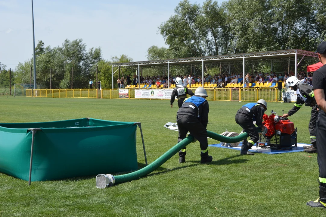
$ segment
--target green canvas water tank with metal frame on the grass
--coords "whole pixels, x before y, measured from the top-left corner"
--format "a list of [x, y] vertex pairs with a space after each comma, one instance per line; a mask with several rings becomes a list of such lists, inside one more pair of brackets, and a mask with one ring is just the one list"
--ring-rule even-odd
[[28, 180], [32, 133], [32, 181], [136, 170], [134, 122], [74, 119], [0, 123], [0, 172]]

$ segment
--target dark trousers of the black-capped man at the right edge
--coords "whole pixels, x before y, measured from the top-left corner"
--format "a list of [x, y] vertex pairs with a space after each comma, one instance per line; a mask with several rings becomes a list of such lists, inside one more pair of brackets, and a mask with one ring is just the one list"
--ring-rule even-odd
[[319, 197], [326, 203], [326, 114], [319, 110], [316, 122], [317, 161], [319, 166]]

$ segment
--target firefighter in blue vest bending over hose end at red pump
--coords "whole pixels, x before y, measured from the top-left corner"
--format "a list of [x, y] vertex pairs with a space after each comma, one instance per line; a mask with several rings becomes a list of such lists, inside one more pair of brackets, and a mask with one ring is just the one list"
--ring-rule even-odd
[[262, 131], [264, 131], [265, 127], [263, 126], [262, 121], [266, 109], [267, 102], [260, 99], [257, 103], [252, 102], [245, 104], [235, 115], [235, 122], [243, 128], [243, 132], [248, 133], [248, 136], [250, 136], [250, 140], [247, 141], [245, 138], [242, 142], [240, 154], [254, 155], [254, 153], [248, 152], [248, 150], [259, 140], [259, 134], [253, 121], [256, 121], [256, 125], [261, 127]]

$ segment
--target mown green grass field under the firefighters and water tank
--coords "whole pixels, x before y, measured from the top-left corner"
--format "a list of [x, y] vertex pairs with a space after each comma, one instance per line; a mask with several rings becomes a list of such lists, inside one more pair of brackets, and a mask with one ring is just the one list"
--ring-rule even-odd
[[[240, 132], [236, 111], [245, 102], [210, 101], [207, 129]], [[268, 103], [279, 115], [293, 103]], [[169, 101], [0, 97], [0, 121], [42, 122], [92, 117], [141, 122], [148, 162], [177, 143], [177, 103]], [[310, 108], [290, 117], [298, 142], [309, 143]], [[137, 132], [139, 167], [144, 166]], [[218, 143], [209, 140], [209, 144]], [[0, 173], [0, 216], [324, 216], [305, 205], [319, 197], [317, 154], [256, 154], [209, 147], [210, 164], [200, 164], [199, 143], [187, 146], [186, 163], [173, 156], [145, 178], [97, 189], [95, 176], [32, 182]], [[0, 153], [1, 157], [1, 153]]]

